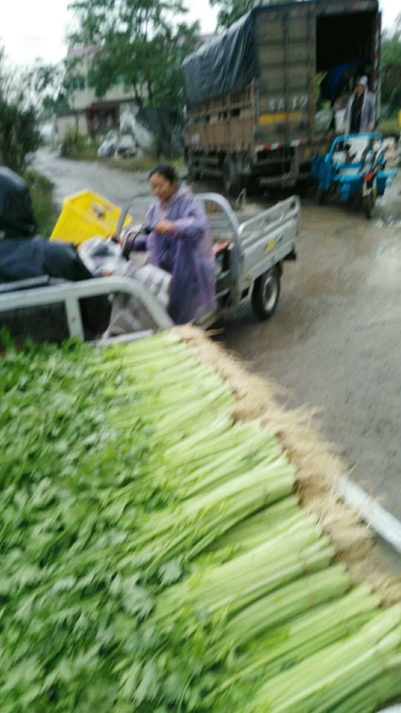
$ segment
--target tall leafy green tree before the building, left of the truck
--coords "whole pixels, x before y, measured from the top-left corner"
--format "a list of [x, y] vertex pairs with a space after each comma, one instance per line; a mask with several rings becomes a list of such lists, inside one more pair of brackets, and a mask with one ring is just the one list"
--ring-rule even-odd
[[71, 41], [97, 49], [89, 74], [96, 95], [118, 81], [137, 104], [176, 105], [182, 96], [180, 66], [197, 45], [199, 24], [177, 21], [182, 0], [76, 0], [78, 31]]

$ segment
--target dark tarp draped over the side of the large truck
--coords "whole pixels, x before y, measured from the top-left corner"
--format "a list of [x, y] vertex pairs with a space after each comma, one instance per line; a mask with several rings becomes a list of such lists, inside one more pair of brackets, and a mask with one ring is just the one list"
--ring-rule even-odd
[[256, 78], [255, 15], [254, 9], [184, 60], [184, 98], [188, 105], [216, 98]]

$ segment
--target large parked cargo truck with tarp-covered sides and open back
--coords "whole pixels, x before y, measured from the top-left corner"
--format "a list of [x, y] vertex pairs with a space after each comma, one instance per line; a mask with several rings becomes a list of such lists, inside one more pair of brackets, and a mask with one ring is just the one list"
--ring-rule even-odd
[[182, 71], [192, 178], [222, 178], [231, 194], [308, 178], [312, 155], [326, 153], [340, 128], [334, 110], [319, 120], [318, 83], [345, 63], [363, 68], [378, 104], [377, 0], [257, 6], [189, 55]]

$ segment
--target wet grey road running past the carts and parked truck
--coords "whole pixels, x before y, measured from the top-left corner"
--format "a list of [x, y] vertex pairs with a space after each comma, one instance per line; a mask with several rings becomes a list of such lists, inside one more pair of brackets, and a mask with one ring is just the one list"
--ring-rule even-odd
[[[43, 150], [36, 168], [56, 200], [92, 188], [115, 202], [146, 193], [146, 176], [62, 160]], [[142, 220], [148, 200], [135, 204]], [[286, 263], [275, 316], [241, 309], [222, 341], [249, 368], [286, 389], [288, 406], [322, 409], [321, 426], [351, 478], [401, 517], [401, 180], [377, 217], [302, 205], [298, 261]]]

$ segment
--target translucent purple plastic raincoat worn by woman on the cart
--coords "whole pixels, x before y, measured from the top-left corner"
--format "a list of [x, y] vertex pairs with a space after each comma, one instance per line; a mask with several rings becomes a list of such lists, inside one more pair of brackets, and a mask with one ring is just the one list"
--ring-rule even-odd
[[186, 324], [216, 309], [216, 272], [207, 214], [188, 188], [179, 188], [167, 203], [158, 200], [147, 212], [149, 227], [161, 220], [174, 222], [175, 232], [150, 233], [147, 262], [172, 274], [170, 315], [176, 324]]

